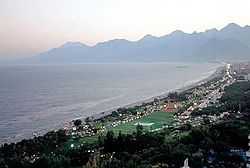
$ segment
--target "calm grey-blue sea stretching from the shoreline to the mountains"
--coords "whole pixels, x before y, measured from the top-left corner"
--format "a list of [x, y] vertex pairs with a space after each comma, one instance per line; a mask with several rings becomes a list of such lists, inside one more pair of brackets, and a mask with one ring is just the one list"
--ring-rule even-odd
[[0, 142], [157, 96], [218, 64], [120, 63], [0, 67]]

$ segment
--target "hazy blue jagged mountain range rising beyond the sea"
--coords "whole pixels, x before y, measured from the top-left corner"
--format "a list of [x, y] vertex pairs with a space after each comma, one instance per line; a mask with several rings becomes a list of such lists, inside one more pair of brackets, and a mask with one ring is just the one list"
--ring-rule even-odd
[[230, 23], [221, 30], [200, 33], [174, 31], [138, 41], [114, 39], [95, 46], [80, 42], [64, 45], [23, 60], [29, 63], [84, 63], [124, 61], [239, 61], [250, 60], [250, 26]]

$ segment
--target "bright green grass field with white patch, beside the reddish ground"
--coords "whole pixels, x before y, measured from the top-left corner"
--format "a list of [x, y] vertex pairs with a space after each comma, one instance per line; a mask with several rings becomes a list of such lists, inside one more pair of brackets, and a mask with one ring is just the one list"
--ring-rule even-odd
[[116, 134], [121, 131], [124, 134], [131, 134], [136, 131], [136, 124], [139, 123], [145, 130], [154, 130], [162, 128], [164, 125], [171, 125], [173, 123], [173, 113], [154, 112], [148, 116], [134, 120], [132, 122], [120, 124], [117, 127], [110, 128]]

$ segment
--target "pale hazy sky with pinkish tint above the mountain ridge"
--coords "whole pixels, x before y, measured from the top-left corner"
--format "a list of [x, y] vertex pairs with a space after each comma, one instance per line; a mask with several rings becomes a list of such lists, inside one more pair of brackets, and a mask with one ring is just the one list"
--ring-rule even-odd
[[250, 24], [249, 0], [0, 0], [0, 57]]

